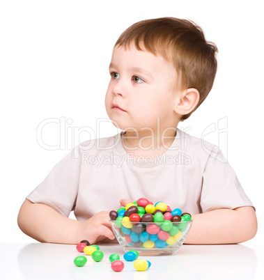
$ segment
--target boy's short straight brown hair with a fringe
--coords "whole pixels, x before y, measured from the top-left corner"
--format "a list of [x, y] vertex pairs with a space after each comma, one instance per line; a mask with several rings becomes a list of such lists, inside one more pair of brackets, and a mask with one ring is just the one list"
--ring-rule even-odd
[[180, 120], [189, 118], [205, 100], [214, 83], [217, 46], [205, 40], [203, 30], [197, 24], [175, 17], [137, 22], [121, 34], [114, 46], [127, 49], [132, 43], [140, 51], [146, 49], [171, 61], [178, 73], [180, 90], [196, 88], [199, 91], [199, 103]]

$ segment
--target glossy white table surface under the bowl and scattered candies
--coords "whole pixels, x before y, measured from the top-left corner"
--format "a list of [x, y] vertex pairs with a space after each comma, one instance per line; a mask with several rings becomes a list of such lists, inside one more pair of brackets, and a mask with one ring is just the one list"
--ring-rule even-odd
[[[134, 270], [123, 259], [118, 244], [98, 244], [104, 253], [101, 262], [77, 251], [75, 245], [49, 243], [0, 243], [0, 279], [264, 279], [264, 245], [183, 245], [174, 256], [139, 256], [151, 267]], [[122, 272], [111, 270], [109, 255], [117, 253], [125, 263]], [[87, 263], [77, 267], [73, 260], [84, 255]]]

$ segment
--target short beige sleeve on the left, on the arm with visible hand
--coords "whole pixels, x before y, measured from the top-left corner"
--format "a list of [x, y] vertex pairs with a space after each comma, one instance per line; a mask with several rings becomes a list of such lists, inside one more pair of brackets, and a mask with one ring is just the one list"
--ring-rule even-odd
[[80, 173], [79, 147], [75, 147], [54, 166], [45, 180], [26, 199], [44, 203], [68, 217], [75, 208]]

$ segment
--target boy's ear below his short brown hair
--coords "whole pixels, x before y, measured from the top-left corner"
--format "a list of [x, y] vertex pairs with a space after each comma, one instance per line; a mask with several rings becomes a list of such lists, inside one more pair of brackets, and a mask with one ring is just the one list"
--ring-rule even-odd
[[188, 88], [177, 95], [174, 111], [179, 115], [187, 115], [194, 110], [200, 100], [199, 91], [196, 88]]

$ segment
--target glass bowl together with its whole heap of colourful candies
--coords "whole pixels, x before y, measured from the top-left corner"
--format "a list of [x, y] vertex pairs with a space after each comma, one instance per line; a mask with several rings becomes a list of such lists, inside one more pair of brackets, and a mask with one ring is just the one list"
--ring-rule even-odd
[[125, 252], [141, 256], [173, 255], [182, 246], [192, 225], [192, 216], [163, 202], [153, 205], [138, 199], [109, 213], [111, 228]]

